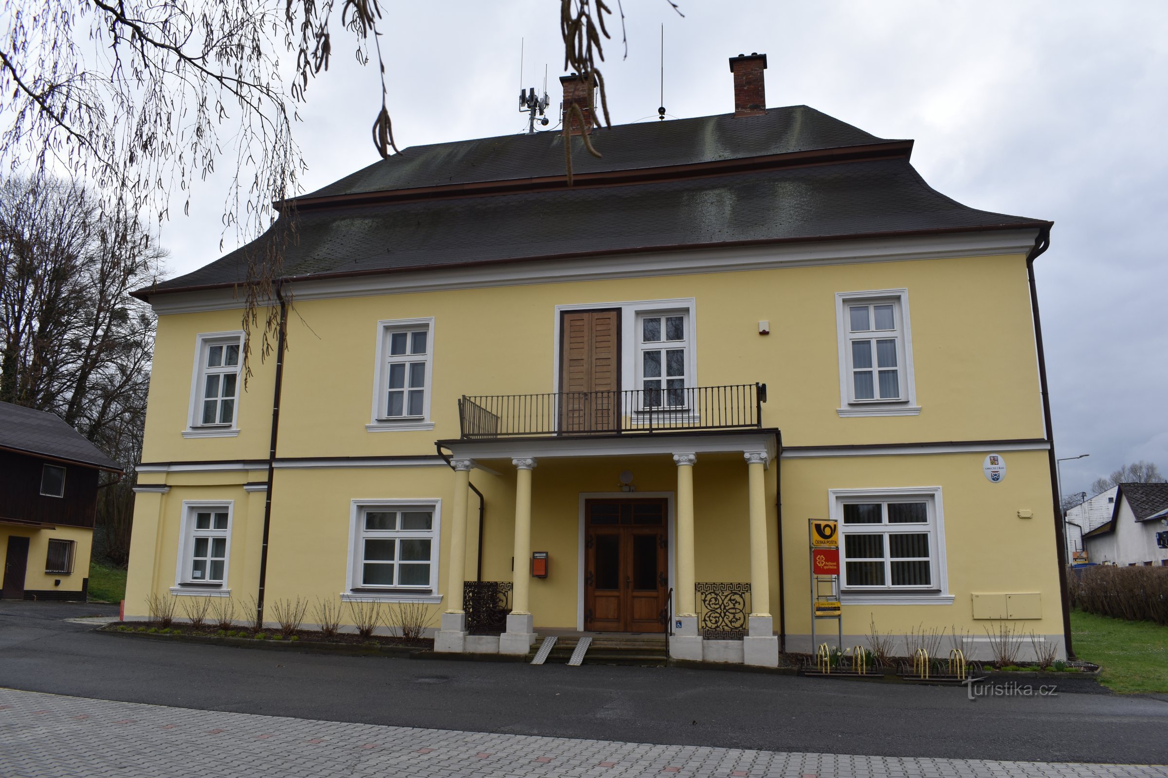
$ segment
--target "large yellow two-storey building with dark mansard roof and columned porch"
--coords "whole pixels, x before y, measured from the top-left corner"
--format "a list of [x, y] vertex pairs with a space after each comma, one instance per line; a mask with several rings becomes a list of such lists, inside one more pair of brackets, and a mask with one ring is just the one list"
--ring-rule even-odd
[[127, 614], [409, 601], [439, 651], [668, 632], [774, 665], [812, 650], [808, 520], [836, 519], [846, 645], [1009, 618], [1062, 651], [1051, 223], [937, 192], [911, 140], [765, 108], [765, 68], [730, 59], [734, 113], [596, 129], [602, 159], [573, 138], [573, 185], [536, 133], [283, 204], [288, 348], [246, 391], [238, 285], [288, 216], [135, 293], [159, 321]]

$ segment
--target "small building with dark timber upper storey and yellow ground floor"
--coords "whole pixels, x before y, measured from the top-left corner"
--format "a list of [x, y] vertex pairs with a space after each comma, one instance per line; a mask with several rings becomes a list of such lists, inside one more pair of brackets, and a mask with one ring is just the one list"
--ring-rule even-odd
[[85, 600], [103, 470], [121, 475], [56, 414], [0, 402], [0, 596]]

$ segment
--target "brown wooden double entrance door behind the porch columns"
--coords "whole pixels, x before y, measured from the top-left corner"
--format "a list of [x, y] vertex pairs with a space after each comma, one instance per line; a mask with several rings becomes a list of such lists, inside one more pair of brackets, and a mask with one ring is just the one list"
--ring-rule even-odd
[[666, 500], [584, 505], [584, 629], [663, 632], [669, 594]]

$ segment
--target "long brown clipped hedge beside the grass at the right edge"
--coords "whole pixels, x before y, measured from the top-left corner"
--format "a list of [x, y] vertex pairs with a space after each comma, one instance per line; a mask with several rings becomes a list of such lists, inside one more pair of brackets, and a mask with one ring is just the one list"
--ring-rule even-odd
[[1097, 565], [1068, 570], [1071, 604], [1127, 621], [1168, 624], [1168, 567]]

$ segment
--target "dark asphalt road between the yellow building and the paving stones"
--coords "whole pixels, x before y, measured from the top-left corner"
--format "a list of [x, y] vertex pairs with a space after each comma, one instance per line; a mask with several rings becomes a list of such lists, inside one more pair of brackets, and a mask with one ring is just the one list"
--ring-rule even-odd
[[965, 689], [728, 671], [332, 657], [138, 640], [0, 603], [0, 686], [208, 710], [871, 756], [1168, 763], [1168, 698], [971, 702]]

